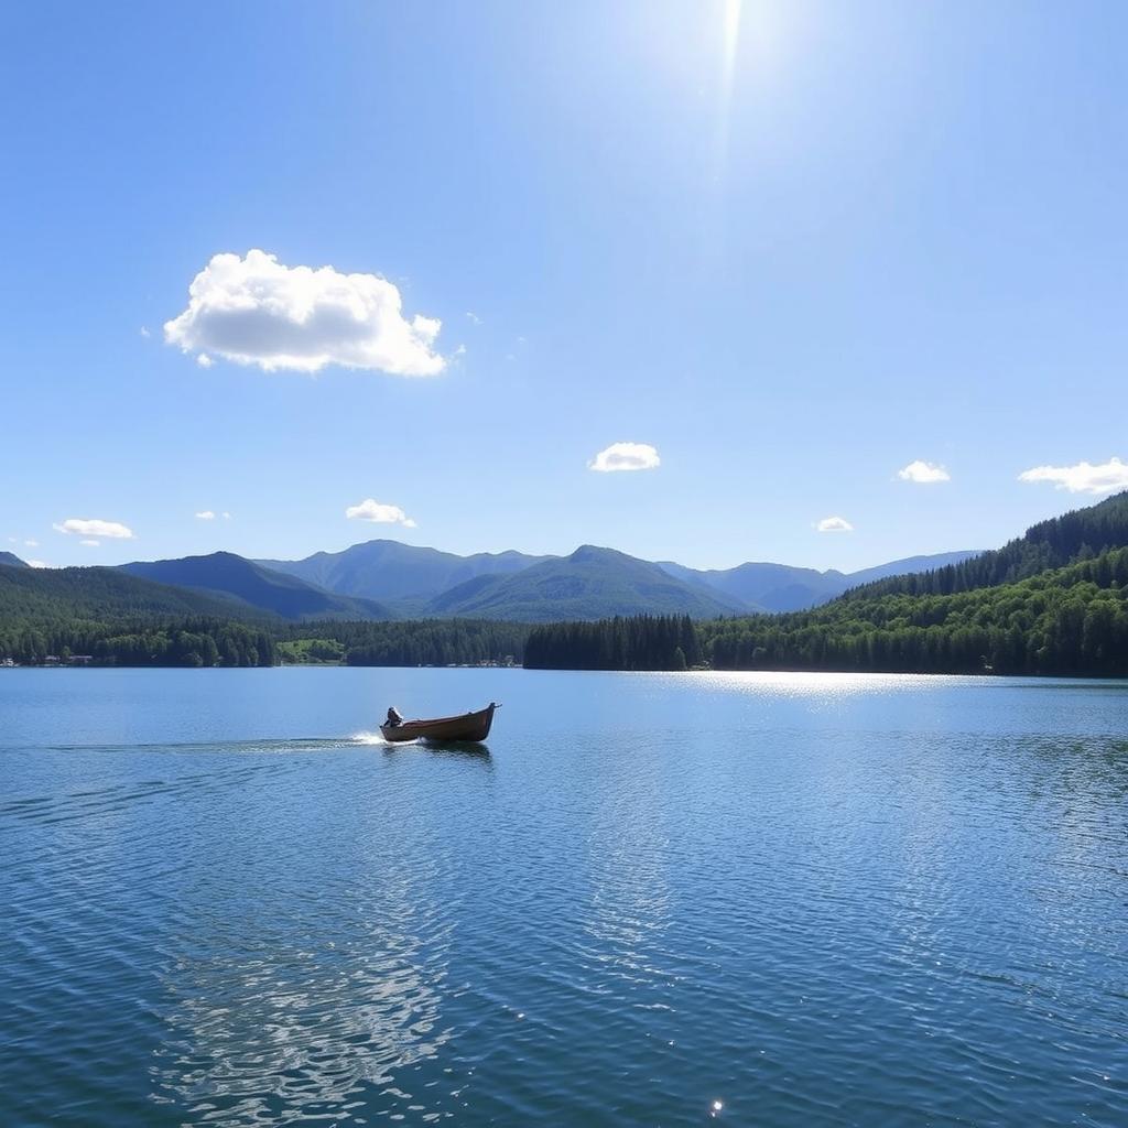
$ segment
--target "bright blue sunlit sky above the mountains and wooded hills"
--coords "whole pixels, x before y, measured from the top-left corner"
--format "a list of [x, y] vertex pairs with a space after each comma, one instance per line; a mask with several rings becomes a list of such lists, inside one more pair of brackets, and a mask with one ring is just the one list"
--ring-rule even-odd
[[853, 570], [1128, 460], [1123, 5], [44, 2], [0, 52], [25, 557]]

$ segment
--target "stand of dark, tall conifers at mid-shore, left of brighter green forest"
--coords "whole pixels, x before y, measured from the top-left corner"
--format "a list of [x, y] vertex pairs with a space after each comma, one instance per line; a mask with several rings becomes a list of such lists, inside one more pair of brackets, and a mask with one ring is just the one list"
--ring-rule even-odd
[[528, 670], [685, 670], [700, 660], [688, 615], [554, 623], [534, 628], [525, 644]]

